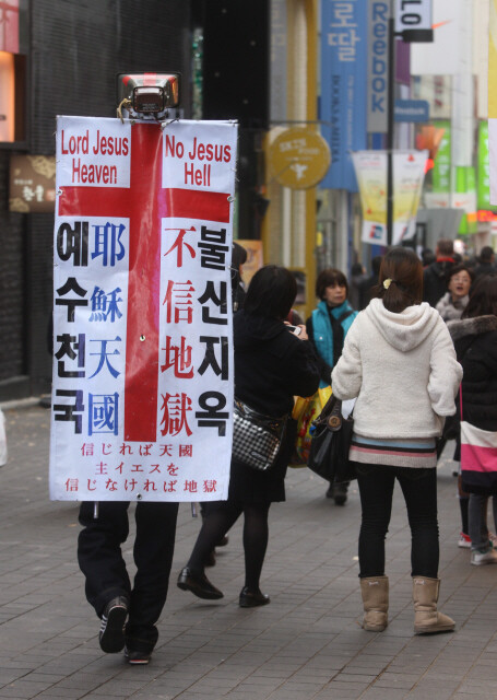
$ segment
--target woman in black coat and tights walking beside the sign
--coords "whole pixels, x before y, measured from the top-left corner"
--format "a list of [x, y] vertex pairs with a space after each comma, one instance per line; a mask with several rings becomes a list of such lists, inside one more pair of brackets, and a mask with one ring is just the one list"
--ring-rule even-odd
[[[316, 355], [305, 326], [291, 332], [284, 318], [297, 294], [294, 276], [285, 268], [269, 265], [259, 270], [249, 285], [244, 308], [234, 317], [235, 396], [267, 416], [289, 415], [294, 396], [311, 396], [319, 385]], [[240, 607], [270, 602], [259, 587], [268, 545], [268, 514], [272, 502], [285, 500], [284, 479], [292, 448], [291, 431], [275, 464], [258, 471], [232, 459], [227, 501], [209, 504], [202, 528], [178, 586], [200, 598], [216, 599], [223, 594], [205, 576], [210, 553], [244, 513], [245, 586]]]

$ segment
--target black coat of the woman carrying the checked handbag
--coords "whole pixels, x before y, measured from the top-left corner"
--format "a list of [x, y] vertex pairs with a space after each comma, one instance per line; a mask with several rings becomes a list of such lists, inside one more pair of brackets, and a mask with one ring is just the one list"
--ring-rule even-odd
[[[282, 320], [239, 311], [234, 317], [235, 396], [251, 408], [279, 417], [292, 411], [294, 396], [311, 396], [319, 385], [312, 346], [291, 334]], [[292, 435], [265, 471], [232, 460], [229, 500], [270, 503], [285, 500], [284, 478]]]

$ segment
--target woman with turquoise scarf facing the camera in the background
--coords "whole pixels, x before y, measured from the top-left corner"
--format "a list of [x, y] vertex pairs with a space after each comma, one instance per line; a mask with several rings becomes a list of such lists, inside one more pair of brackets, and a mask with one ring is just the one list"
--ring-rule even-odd
[[[347, 301], [348, 284], [340, 270], [322, 270], [316, 280], [316, 296], [320, 300], [317, 308], [306, 322], [307, 335], [318, 357], [320, 387], [330, 386], [331, 372], [339, 361], [343, 343], [357, 312]], [[347, 500], [348, 482], [330, 483], [327, 498], [336, 505]]]

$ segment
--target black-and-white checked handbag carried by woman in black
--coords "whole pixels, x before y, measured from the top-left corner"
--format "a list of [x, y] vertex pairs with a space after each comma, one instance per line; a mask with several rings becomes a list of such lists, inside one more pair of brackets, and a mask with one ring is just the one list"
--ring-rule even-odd
[[233, 452], [237, 462], [267, 471], [277, 457], [285, 434], [287, 416], [272, 418], [259, 413], [235, 398], [233, 412]]

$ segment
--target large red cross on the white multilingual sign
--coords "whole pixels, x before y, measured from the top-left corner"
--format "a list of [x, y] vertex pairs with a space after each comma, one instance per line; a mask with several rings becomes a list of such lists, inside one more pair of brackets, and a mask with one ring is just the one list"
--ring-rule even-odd
[[161, 221], [178, 217], [229, 222], [226, 194], [162, 187], [162, 155], [161, 125], [134, 124], [129, 187], [60, 187], [59, 217], [129, 219], [125, 380], [125, 440], [129, 442], [156, 440]]

